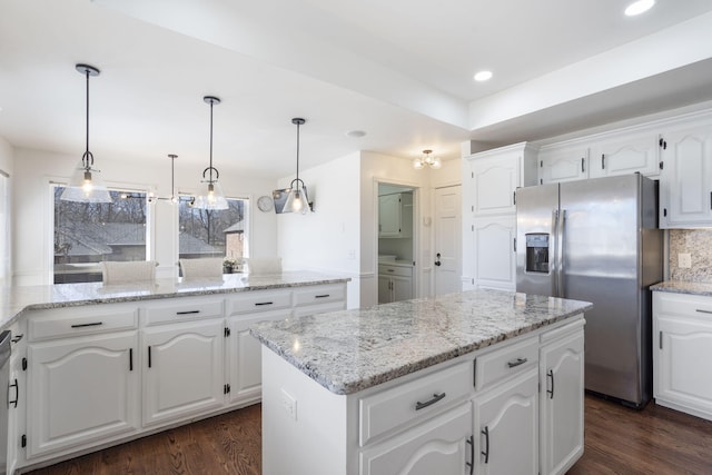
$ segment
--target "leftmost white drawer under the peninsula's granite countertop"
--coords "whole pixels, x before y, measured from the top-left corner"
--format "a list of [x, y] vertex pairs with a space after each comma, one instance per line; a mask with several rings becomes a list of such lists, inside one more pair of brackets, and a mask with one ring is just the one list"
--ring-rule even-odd
[[134, 329], [138, 326], [138, 308], [98, 305], [34, 310], [28, 315], [27, 325], [30, 342]]

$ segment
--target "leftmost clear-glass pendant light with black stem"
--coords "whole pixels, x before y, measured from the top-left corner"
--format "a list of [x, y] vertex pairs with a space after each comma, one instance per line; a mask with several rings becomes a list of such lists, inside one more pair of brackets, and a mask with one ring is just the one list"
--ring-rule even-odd
[[111, 202], [111, 195], [99, 177], [100, 170], [93, 168], [93, 155], [89, 151], [89, 77], [99, 76], [99, 70], [89, 65], [77, 65], [75, 68], [87, 78], [87, 148], [60, 199]]

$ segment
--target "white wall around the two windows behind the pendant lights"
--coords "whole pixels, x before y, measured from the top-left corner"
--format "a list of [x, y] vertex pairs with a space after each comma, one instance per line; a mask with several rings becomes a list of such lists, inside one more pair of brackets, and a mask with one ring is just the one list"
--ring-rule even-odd
[[[2, 154], [0, 149], [0, 154]], [[67, 156], [49, 151], [17, 149], [14, 154], [13, 188], [13, 284], [51, 284], [52, 199], [50, 181], [66, 182], [80, 155]], [[129, 162], [122, 157], [96, 156], [96, 166], [108, 186], [154, 188], [158, 196], [170, 196], [170, 160], [155, 157]], [[180, 164], [176, 159], [176, 188], [190, 191], [197, 185], [202, 168]], [[270, 195], [273, 180], [244, 177], [220, 170], [220, 182], [229, 197], [250, 198], [250, 254], [271, 256], [277, 248], [277, 226], [274, 212], [257, 210], [256, 200]], [[178, 240], [177, 211], [166, 202], [151, 208], [155, 226], [152, 258], [159, 261], [159, 276], [177, 275]]]

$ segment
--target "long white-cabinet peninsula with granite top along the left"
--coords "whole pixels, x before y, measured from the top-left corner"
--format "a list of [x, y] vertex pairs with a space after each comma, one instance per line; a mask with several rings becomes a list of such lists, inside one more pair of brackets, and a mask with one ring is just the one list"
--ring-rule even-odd
[[225, 275], [0, 293], [11, 329], [8, 473], [258, 403], [248, 328], [346, 308], [348, 278]]

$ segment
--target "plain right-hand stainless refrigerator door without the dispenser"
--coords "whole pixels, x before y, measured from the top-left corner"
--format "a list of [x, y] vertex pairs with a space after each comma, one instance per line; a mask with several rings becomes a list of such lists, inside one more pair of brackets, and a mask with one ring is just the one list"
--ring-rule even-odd
[[641, 313], [641, 177], [561, 185], [564, 295], [586, 313], [585, 386], [635, 405], [649, 398]]

